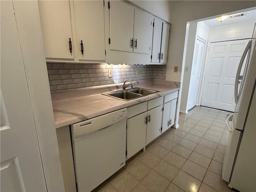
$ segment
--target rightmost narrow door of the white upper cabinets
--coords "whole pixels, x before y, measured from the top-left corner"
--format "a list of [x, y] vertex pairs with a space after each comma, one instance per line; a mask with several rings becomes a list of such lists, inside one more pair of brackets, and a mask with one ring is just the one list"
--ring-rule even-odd
[[167, 62], [169, 35], [170, 35], [170, 25], [163, 23], [160, 63]]

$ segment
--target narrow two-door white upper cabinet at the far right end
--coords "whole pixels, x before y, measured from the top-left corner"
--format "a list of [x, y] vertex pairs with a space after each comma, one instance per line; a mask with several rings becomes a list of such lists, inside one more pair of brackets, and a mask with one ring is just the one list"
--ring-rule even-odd
[[170, 25], [154, 18], [153, 42], [152, 42], [152, 63], [167, 62]]

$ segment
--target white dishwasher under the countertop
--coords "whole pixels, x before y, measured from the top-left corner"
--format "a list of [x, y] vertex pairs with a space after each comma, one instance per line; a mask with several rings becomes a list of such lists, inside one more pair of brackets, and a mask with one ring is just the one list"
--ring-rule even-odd
[[125, 165], [127, 109], [71, 126], [78, 192], [89, 192]]

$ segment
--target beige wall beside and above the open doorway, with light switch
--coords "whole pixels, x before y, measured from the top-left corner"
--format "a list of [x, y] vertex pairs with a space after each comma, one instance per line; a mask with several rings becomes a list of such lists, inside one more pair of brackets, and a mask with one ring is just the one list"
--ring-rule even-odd
[[[186, 24], [189, 21], [202, 20], [224, 13], [256, 6], [255, 1], [179, 1], [173, 4], [173, 18], [170, 32], [166, 80], [181, 81], [184, 66], [182, 58]], [[174, 73], [174, 66], [178, 66], [178, 73]]]

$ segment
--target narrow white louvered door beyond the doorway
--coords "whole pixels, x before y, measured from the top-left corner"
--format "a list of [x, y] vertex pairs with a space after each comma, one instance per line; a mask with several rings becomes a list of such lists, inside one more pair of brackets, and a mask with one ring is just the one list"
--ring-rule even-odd
[[188, 89], [188, 102], [186, 110], [190, 110], [196, 105], [196, 99], [198, 94], [198, 86], [201, 75], [202, 60], [204, 56], [205, 43], [196, 39], [194, 48], [194, 56], [191, 68], [190, 83]]

